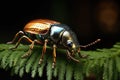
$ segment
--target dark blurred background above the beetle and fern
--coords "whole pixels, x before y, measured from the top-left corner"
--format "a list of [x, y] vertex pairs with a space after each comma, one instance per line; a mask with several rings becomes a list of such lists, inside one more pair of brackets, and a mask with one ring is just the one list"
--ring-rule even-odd
[[70, 26], [81, 45], [101, 38], [87, 49], [111, 48], [120, 41], [119, 5], [119, 0], [1, 0], [0, 43], [12, 40], [30, 20], [47, 18]]

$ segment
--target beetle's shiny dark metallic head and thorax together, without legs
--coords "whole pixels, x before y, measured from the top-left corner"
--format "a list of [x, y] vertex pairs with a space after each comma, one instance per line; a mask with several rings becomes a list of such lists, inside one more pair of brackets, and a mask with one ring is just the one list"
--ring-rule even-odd
[[[76, 49], [79, 46], [75, 33], [65, 24], [52, 25], [50, 38], [54, 43], [59, 43], [66, 48]], [[70, 42], [72, 42], [72, 46], [69, 46]]]

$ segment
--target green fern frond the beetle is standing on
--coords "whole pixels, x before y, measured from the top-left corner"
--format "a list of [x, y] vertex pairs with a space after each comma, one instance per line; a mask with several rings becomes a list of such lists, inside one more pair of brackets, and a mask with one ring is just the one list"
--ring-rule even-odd
[[46, 75], [47, 80], [53, 77], [58, 80], [85, 80], [91, 75], [94, 75], [96, 80], [118, 80], [120, 78], [120, 43], [116, 43], [113, 48], [109, 49], [81, 51], [81, 54], [89, 56], [83, 59], [75, 55], [80, 63], [68, 59], [65, 50], [57, 49], [55, 69], [52, 69], [53, 54], [50, 47], [47, 47], [43, 63], [39, 65], [41, 46], [36, 45], [32, 54], [24, 59], [21, 56], [27, 52], [29, 46], [20, 44], [17, 49], [10, 50], [12, 46], [14, 45], [0, 44], [0, 68], [10, 69], [12, 75], [23, 77], [25, 73], [30, 73], [31, 78], [35, 78], [36, 75], [39, 77]]

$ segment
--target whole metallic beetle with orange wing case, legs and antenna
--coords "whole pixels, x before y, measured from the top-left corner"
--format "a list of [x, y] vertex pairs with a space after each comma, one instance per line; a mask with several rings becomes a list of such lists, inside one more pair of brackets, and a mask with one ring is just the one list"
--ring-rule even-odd
[[56, 48], [62, 47], [66, 49], [67, 56], [74, 60], [75, 62], [79, 62], [78, 59], [74, 58], [75, 53], [78, 53], [80, 57], [86, 57], [80, 54], [80, 48], [81, 47], [88, 47], [91, 46], [97, 42], [100, 41], [100, 39], [97, 39], [96, 41], [82, 46], [79, 45], [79, 42], [77, 40], [77, 36], [75, 33], [65, 24], [61, 24], [60, 22], [49, 20], [49, 19], [35, 19], [28, 22], [23, 31], [19, 31], [14, 36], [13, 40], [10, 42], [7, 42], [7, 44], [12, 44], [15, 42], [16, 38], [18, 36], [21, 36], [18, 41], [16, 42], [16, 45], [12, 47], [11, 49], [16, 49], [22, 39], [26, 39], [28, 42], [30, 42], [29, 50], [22, 56], [22, 58], [26, 58], [29, 55], [31, 55], [32, 49], [34, 48], [34, 44], [40, 44], [43, 45], [42, 54], [39, 60], [39, 64], [42, 63], [44, 54], [46, 52], [46, 46], [52, 45], [53, 46], [53, 63], [52, 68], [55, 67], [56, 64]]

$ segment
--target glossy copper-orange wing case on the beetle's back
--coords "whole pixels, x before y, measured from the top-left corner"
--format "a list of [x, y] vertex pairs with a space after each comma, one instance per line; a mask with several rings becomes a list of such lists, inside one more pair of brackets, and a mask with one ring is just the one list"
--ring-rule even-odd
[[59, 24], [59, 22], [48, 19], [37, 19], [30, 21], [25, 25], [24, 31], [31, 34], [46, 34], [48, 33], [52, 24]]

